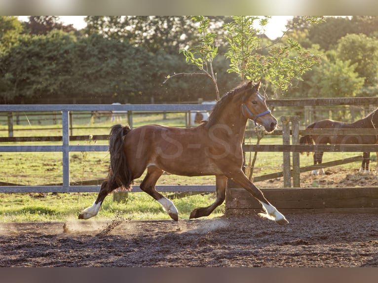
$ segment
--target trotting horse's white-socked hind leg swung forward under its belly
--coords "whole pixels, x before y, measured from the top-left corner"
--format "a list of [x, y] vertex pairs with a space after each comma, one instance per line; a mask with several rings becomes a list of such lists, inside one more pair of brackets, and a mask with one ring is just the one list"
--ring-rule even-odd
[[173, 202], [163, 197], [155, 190], [156, 181], [161, 174], [163, 174], [163, 171], [160, 168], [157, 168], [156, 166], [148, 167], [147, 175], [140, 184], [140, 188], [142, 191], [148, 193], [151, 197], [157, 200], [163, 207], [164, 211], [167, 212], [173, 220], [178, 221], [179, 212]]

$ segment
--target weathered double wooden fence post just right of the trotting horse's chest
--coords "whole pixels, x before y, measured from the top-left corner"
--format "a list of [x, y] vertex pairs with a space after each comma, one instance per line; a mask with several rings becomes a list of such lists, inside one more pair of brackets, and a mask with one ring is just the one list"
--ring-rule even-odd
[[[290, 122], [292, 123], [292, 144], [299, 143], [299, 116], [281, 116], [282, 144], [290, 144]], [[293, 177], [294, 187], [301, 187], [299, 152], [293, 152], [293, 173], [291, 172], [290, 152], [283, 152], [284, 187], [291, 188]]]

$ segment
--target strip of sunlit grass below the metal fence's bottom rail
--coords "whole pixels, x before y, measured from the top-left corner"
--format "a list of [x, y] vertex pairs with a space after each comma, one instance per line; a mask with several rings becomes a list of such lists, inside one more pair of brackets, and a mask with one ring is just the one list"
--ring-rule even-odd
[[[164, 193], [163, 193], [164, 194]], [[165, 193], [168, 196], [168, 193]], [[67, 221], [77, 219], [78, 214], [93, 204], [97, 193], [2, 193], [0, 194], [0, 222]], [[172, 198], [181, 219], [189, 219], [190, 212], [205, 207], [215, 200], [215, 193]], [[208, 218], [220, 217], [224, 205]], [[125, 202], [113, 201], [112, 194], [105, 200], [96, 220], [111, 220], [123, 215], [130, 220], [170, 219], [158, 202], [142, 192], [128, 193]]]

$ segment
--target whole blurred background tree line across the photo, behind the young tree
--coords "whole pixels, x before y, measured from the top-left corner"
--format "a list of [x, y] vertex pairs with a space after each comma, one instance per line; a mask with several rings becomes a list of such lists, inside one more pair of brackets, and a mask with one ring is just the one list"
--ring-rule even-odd
[[[240, 83], [227, 72], [230, 42], [222, 26], [230, 17], [209, 17], [219, 55], [212, 62], [220, 94]], [[7, 103], [177, 103], [214, 100], [205, 76], [189, 75], [182, 48], [194, 46], [199, 31], [188, 17], [88, 16], [77, 31], [54, 16], [0, 17], [0, 101]], [[306, 51], [321, 54], [320, 64], [305, 71], [279, 95], [283, 97], [375, 96], [378, 80], [378, 19], [374, 16], [327, 17], [310, 25], [294, 17], [281, 38], [262, 38], [269, 45], [289, 37]], [[296, 48], [295, 44], [293, 45]], [[284, 48], [282, 48], [284, 50]], [[260, 51], [259, 51], [260, 52]], [[264, 55], [262, 50], [257, 55]], [[288, 54], [291, 61], [300, 60]], [[299, 59], [298, 59], [299, 58]], [[300, 62], [298, 63], [300, 64]], [[273, 91], [261, 77], [266, 91]], [[188, 73], [163, 83], [168, 74]]]

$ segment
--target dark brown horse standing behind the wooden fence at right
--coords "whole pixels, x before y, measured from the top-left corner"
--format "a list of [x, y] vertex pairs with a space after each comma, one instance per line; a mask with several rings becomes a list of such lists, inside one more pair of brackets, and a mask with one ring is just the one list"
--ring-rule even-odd
[[[378, 109], [369, 113], [365, 118], [354, 123], [344, 123], [329, 119], [320, 120], [307, 126], [306, 130], [311, 129], [377, 129], [378, 128]], [[301, 144], [375, 144], [376, 135], [338, 135], [337, 131], [331, 135], [307, 135], [302, 136], [299, 141]], [[314, 165], [321, 164], [323, 152], [314, 152]], [[360, 172], [369, 172], [370, 152], [364, 152]], [[313, 175], [324, 174], [321, 169], [312, 171]]]

